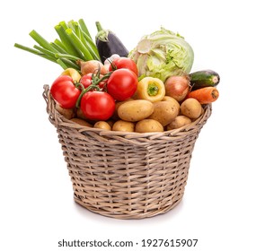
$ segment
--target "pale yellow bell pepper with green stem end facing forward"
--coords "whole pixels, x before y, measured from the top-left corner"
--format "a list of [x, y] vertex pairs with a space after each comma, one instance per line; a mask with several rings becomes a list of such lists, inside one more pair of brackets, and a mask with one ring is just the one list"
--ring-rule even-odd
[[135, 99], [151, 102], [161, 101], [165, 96], [163, 81], [158, 78], [145, 77], [137, 84]]

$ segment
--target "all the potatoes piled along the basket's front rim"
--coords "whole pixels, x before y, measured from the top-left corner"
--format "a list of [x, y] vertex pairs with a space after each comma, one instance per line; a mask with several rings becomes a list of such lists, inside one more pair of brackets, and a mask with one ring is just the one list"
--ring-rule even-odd
[[203, 113], [198, 100], [193, 98], [178, 102], [165, 96], [163, 100], [126, 100], [116, 103], [114, 115], [108, 121], [89, 121], [80, 109], [64, 109], [56, 106], [57, 111], [67, 119], [89, 127], [122, 132], [163, 132], [188, 125]]

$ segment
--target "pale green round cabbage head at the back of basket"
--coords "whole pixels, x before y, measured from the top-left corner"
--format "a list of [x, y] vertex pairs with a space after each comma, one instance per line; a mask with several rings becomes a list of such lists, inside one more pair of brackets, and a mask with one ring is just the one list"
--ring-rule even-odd
[[128, 57], [136, 62], [140, 79], [152, 76], [164, 82], [171, 75], [189, 74], [194, 52], [180, 34], [161, 28], [144, 36]]

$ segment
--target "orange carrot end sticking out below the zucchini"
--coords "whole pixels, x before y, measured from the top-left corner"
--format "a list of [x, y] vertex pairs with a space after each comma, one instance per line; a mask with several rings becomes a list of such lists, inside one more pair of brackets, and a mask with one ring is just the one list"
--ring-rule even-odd
[[194, 98], [200, 104], [209, 104], [218, 99], [219, 93], [216, 87], [204, 87], [195, 91], [190, 91], [187, 98]]

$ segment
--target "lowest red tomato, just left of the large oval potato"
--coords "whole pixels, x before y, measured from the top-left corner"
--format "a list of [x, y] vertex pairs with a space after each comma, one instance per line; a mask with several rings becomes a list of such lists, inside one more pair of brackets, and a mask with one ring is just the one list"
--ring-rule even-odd
[[92, 120], [107, 120], [115, 110], [115, 100], [104, 91], [88, 91], [82, 97], [80, 108]]

